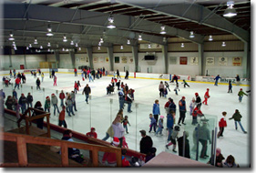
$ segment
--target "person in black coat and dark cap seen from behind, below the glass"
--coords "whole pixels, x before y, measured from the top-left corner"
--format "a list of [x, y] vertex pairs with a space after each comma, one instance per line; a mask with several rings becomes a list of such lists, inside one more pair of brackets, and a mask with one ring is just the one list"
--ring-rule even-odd
[[150, 149], [153, 146], [152, 138], [146, 135], [145, 130], [140, 130], [139, 132], [142, 137], [139, 143], [139, 152], [148, 155], [148, 153], [151, 151]]

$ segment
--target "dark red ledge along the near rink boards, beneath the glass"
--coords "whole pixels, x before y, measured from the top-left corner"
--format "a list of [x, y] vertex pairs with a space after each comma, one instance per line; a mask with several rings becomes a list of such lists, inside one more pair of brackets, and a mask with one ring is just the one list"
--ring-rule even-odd
[[[9, 115], [15, 116], [15, 111], [7, 109], [7, 108], [5, 108], [5, 113], [7, 113]], [[46, 122], [44, 122], [44, 126], [47, 127], [47, 123]], [[51, 124], [51, 123], [49, 123], [49, 127], [50, 127], [50, 129], [56, 130], [59, 133], [63, 133], [65, 130], [67, 130], [67, 128], [65, 128], [65, 127], [59, 127], [59, 126], [56, 126], [56, 125]], [[73, 134], [73, 137], [76, 137], [77, 139], [83, 140], [83, 141], [85, 141], [87, 143], [90, 143], [90, 144], [96, 144], [96, 145], [102, 145], [102, 146], [110, 146], [110, 143], [107, 142], [107, 141], [103, 141], [103, 140], [100, 140], [100, 139], [97, 139], [97, 138], [93, 138], [93, 137], [87, 137], [85, 134], [79, 133], [77, 131], [73, 131], [72, 130], [72, 134]], [[91, 139], [89, 139], [89, 138], [91, 138]], [[137, 158], [140, 158], [141, 160], [145, 161], [145, 159], [146, 159], [146, 155], [145, 154], [139, 153], [138, 151], [132, 150], [130, 148], [126, 148], [126, 149], [127, 149], [127, 156], [129, 156], [129, 157], [137, 157]]]

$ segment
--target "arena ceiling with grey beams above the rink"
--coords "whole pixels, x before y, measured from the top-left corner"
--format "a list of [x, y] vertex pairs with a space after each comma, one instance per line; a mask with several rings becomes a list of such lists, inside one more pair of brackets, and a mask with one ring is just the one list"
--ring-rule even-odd
[[[206, 36], [234, 35], [250, 42], [251, 1], [233, 0], [237, 15], [223, 17], [227, 0], [5, 0], [4, 45], [10, 32], [17, 46], [33, 44], [46, 47], [138, 45], [138, 35], [151, 43], [166, 45], [164, 37], [180, 37], [202, 44]], [[145, 3], [146, 2], [146, 3]], [[108, 29], [108, 17], [114, 17], [115, 29]], [[46, 36], [47, 27], [54, 36]], [[160, 27], [166, 34], [161, 35]], [[190, 31], [195, 37], [190, 38]], [[64, 43], [63, 36], [68, 42]], [[74, 45], [75, 46], [75, 45]], [[72, 47], [72, 46], [71, 46]]]

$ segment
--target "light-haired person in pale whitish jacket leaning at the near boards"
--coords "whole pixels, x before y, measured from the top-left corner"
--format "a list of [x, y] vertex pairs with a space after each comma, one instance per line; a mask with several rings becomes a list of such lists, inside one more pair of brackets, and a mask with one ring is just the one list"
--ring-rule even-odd
[[121, 116], [118, 115], [112, 123], [112, 127], [114, 130], [114, 137], [118, 137], [120, 141], [120, 148], [122, 148], [123, 137], [125, 135], [125, 128], [121, 124]]

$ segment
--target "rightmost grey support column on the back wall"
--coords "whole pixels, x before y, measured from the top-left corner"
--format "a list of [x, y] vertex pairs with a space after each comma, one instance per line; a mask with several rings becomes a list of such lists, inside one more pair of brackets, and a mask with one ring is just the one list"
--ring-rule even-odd
[[250, 42], [244, 42], [244, 49], [243, 49], [243, 57], [241, 66], [242, 70], [242, 77], [251, 77], [251, 44]]

